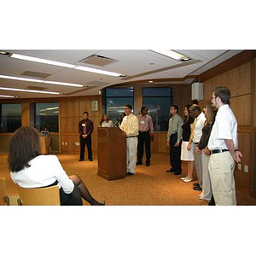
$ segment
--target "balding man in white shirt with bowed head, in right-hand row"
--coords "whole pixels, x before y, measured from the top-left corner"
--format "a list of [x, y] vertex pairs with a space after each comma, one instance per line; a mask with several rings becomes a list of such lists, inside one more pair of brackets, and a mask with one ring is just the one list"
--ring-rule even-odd
[[198, 183], [194, 183], [194, 190], [202, 190], [202, 163], [201, 163], [201, 154], [195, 153], [195, 148], [197, 144], [200, 142], [201, 136], [202, 136], [202, 128], [205, 125], [206, 122], [206, 116], [204, 113], [201, 112], [201, 108], [193, 104], [189, 108], [189, 112], [191, 113], [191, 117], [195, 119], [193, 126], [193, 137], [192, 137], [192, 143], [195, 144], [194, 148], [194, 157], [195, 157], [195, 171], [198, 178]]

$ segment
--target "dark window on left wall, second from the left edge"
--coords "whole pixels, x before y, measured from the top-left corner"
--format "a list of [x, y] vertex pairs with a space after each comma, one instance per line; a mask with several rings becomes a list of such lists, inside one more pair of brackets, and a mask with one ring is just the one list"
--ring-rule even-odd
[[38, 131], [59, 131], [59, 105], [57, 102], [35, 103], [35, 128]]

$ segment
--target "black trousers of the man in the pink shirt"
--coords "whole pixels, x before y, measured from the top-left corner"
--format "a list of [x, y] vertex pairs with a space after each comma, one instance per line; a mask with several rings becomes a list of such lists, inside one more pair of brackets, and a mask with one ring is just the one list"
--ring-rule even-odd
[[137, 161], [143, 162], [144, 144], [146, 149], [146, 164], [150, 164], [150, 133], [149, 131], [139, 131], [137, 142]]

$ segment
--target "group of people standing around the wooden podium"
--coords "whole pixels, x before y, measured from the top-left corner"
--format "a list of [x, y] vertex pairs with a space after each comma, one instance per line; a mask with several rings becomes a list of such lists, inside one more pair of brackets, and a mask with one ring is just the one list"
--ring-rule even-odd
[[[126, 155], [127, 155], [127, 172], [126, 175], [134, 175], [136, 173], [136, 165], [143, 164], [144, 146], [146, 151], [145, 166], [150, 166], [150, 141], [154, 138], [154, 125], [148, 108], [143, 106], [141, 113], [137, 116], [131, 113], [130, 104], [125, 105], [125, 112], [121, 113], [120, 119], [115, 122], [108, 119], [108, 115], [104, 113], [99, 123], [99, 127], [119, 127], [122, 130], [122, 136], [126, 137]], [[84, 160], [84, 148], [87, 145], [88, 159], [92, 161], [91, 150], [91, 133], [93, 131], [93, 122], [88, 119], [89, 113], [84, 111], [84, 119], [79, 121], [80, 134], [80, 158]]]

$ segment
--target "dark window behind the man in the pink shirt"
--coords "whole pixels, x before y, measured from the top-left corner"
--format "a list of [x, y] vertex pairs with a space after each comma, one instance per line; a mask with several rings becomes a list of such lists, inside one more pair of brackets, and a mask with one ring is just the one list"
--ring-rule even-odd
[[155, 131], [167, 131], [172, 105], [172, 88], [143, 88], [143, 106], [148, 107]]

